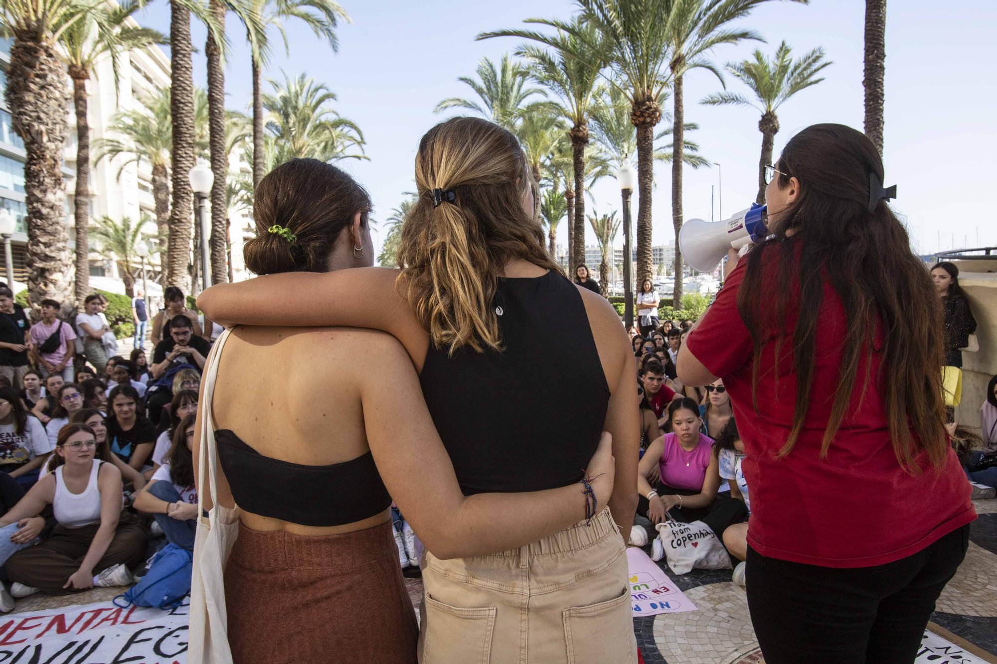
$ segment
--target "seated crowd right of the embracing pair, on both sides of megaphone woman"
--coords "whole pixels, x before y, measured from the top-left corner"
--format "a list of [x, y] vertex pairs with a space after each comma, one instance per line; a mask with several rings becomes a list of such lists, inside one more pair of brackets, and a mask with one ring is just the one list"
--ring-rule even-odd
[[[676, 378], [675, 360], [691, 326], [689, 320], [681, 325], [665, 321], [646, 338], [631, 330], [641, 460], [638, 516], [630, 544], [647, 544], [648, 528], [666, 518], [703, 521], [723, 542], [734, 563], [734, 580], [744, 586], [751, 509], [742, 472], [744, 444], [722, 380], [693, 388]], [[980, 420], [982, 437], [954, 422], [949, 425], [974, 499], [993, 498], [997, 487], [997, 376], [990, 381]], [[654, 538], [651, 557], [660, 560], [664, 555], [661, 540]]]

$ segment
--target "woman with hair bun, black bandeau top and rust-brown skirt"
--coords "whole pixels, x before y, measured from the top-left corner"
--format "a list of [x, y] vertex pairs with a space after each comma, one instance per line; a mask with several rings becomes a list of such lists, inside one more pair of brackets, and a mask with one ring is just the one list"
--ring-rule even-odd
[[[517, 197], [515, 201], [521, 210]], [[322, 310], [329, 306], [331, 295], [332, 301], [342, 298], [340, 306], [350, 308], [359, 299], [368, 309], [413, 321], [418, 327], [393, 282], [383, 285], [380, 275], [391, 272], [344, 269], [373, 263], [369, 210], [367, 192], [335, 166], [292, 160], [275, 168], [256, 188], [257, 236], [245, 247], [247, 267], [272, 276], [243, 282], [247, 288], [239, 290], [240, 297], [251, 309], [276, 313], [266, 321], [271, 325], [297, 320], [278, 311], [288, 308], [287, 301]], [[522, 213], [509, 216], [518, 218]], [[458, 223], [456, 214], [443, 225], [456, 234], [458, 227], [451, 221]], [[436, 256], [447, 253], [443, 248], [433, 251]], [[444, 259], [457, 262], [462, 255]], [[327, 277], [348, 273], [361, 277], [359, 285], [355, 279], [347, 280], [353, 292], [344, 295], [341, 288], [326, 292]], [[451, 274], [455, 279], [467, 276]], [[431, 287], [428, 281], [412, 283]], [[477, 282], [460, 283], [474, 289]], [[272, 294], [274, 287], [280, 294], [271, 298], [267, 293]], [[487, 326], [484, 315], [479, 320]], [[493, 324], [491, 338], [497, 331]], [[422, 334], [420, 366], [429, 345], [428, 335]], [[470, 329], [467, 334], [473, 336]], [[526, 546], [583, 520], [586, 510], [591, 512], [596, 504], [601, 508], [610, 496], [613, 463], [609, 436], [602, 436], [600, 443], [601, 419], [594, 444], [566, 462], [574, 476], [567, 481], [533, 486], [530, 493], [508, 493], [500, 486], [484, 491], [465, 488], [462, 493], [409, 355], [398, 340], [383, 332], [239, 327], [219, 338], [215, 355], [219, 346], [221, 353], [210, 358], [204, 379], [207, 389], [211, 366], [217, 362], [213, 404], [202, 399], [200, 408], [201, 413], [211, 409], [217, 428], [215, 443], [224, 477], [222, 481], [219, 476], [218, 501], [231, 505], [234, 500], [241, 512], [238, 538], [224, 569], [228, 643], [236, 664], [327, 662], [330, 657], [338, 663], [416, 661], [415, 612], [402, 581], [389, 510], [392, 498], [427, 549], [447, 559]], [[273, 386], [275, 366], [282, 375], [294, 377], [279, 390]], [[476, 402], [476, 412], [479, 407]], [[580, 419], [591, 420], [588, 414]], [[469, 428], [457, 435], [469, 443], [480, 439], [481, 431]], [[506, 442], [520, 444], [512, 437]], [[201, 443], [196, 441], [195, 448]], [[198, 449], [193, 451], [195, 458]], [[495, 452], [481, 454], [488, 459]], [[536, 450], [531, 454], [535, 458]], [[467, 463], [465, 457], [460, 459]], [[535, 475], [524, 466], [505, 480], [515, 483], [516, 476]], [[586, 466], [593, 478], [587, 484], [580, 470]], [[209, 497], [206, 478], [198, 480], [199, 494]], [[583, 495], [589, 486], [594, 494]], [[585, 537], [609, 529], [610, 524], [598, 517], [592, 518], [591, 528], [580, 528]], [[614, 528], [612, 534], [618, 537]], [[625, 599], [626, 626], [632, 632], [628, 596]], [[434, 594], [427, 601], [437, 600], [447, 598]], [[468, 615], [473, 630], [483, 624], [475, 618], [485, 612], [450, 615]], [[445, 624], [440, 623], [440, 628]], [[191, 624], [192, 642], [203, 628]], [[286, 634], [292, 629], [297, 636], [288, 647]], [[480, 657], [486, 646], [471, 640], [448, 633], [435, 647], [474, 647]], [[469, 660], [459, 655], [434, 661]]]

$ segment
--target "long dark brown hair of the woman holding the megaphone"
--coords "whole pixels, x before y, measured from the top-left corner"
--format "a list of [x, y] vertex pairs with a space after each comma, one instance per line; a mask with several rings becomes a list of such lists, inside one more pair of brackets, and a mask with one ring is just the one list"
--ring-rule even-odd
[[[885, 201], [869, 211], [870, 173], [877, 184], [882, 183], [879, 153], [868, 138], [849, 127], [814, 125], [790, 140], [777, 167], [788, 173], [779, 175], [779, 186], [788, 186], [789, 177], [797, 177], [800, 195], [778, 218], [770, 215], [773, 235], [748, 253], [738, 310], [755, 344], [755, 386], [769, 332], [775, 329], [779, 334], [777, 362], [781, 344], [793, 344], [796, 409], [793, 429], [779, 456], [793, 450], [813, 398], [815, 337], [824, 284], [830, 283], [843, 306], [847, 329], [841, 339], [840, 378], [821, 458], [828, 455], [856, 382], [860, 381], [860, 403], [865, 390], [874, 389], [878, 380], [885, 388], [883, 401], [897, 462], [918, 473], [914, 458], [923, 451], [940, 468], [948, 449], [941, 392], [945, 345], [941, 302], [927, 270], [910, 250], [906, 229]], [[796, 287], [766, 288], [763, 280], [772, 277], [763, 275], [766, 257], [778, 263], [774, 282]], [[787, 339], [782, 321], [790, 300], [797, 297], [799, 317], [792, 339]], [[876, 345], [879, 330], [881, 343]], [[871, 376], [873, 354], [881, 357], [876, 377]], [[757, 399], [754, 402], [757, 412]]]

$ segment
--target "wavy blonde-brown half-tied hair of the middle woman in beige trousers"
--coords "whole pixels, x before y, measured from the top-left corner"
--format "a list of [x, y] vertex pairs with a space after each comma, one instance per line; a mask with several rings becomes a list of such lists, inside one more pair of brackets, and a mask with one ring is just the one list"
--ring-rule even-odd
[[[454, 118], [420, 141], [419, 200], [402, 226], [399, 286], [438, 347], [501, 350], [494, 300], [509, 261], [562, 273], [535, 212], [522, 208], [532, 185], [515, 137], [486, 120]], [[434, 205], [437, 188], [454, 200]]]

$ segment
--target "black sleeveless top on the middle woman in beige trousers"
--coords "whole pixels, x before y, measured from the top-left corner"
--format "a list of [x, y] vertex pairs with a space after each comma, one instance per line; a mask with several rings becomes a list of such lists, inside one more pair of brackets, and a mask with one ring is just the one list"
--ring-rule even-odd
[[[499, 279], [502, 352], [430, 343], [420, 382], [461, 491], [532, 492], [580, 480], [609, 387], [578, 289], [554, 272]], [[497, 310], [498, 311], [498, 310]]]

